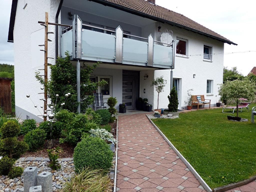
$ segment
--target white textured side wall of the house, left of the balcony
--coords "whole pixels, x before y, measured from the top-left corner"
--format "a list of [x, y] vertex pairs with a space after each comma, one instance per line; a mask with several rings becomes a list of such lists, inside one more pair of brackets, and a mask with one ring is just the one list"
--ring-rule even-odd
[[[43, 101], [39, 101], [39, 99], [43, 98], [43, 94], [38, 94], [42, 90], [40, 89], [41, 85], [35, 79], [35, 71], [44, 68], [44, 60], [41, 57], [44, 52], [35, 49], [39, 47], [39, 42], [44, 44], [44, 36], [41, 36], [42, 33], [40, 33], [40, 29], [44, 27], [38, 24], [38, 21], [44, 21], [45, 12], [48, 12], [49, 22], [55, 23], [58, 5], [59, 0], [28, 1], [25, 9], [23, 9], [23, 1], [18, 1], [17, 4], [14, 25], [15, 104], [16, 113], [23, 119], [26, 118], [26, 115], [30, 118], [40, 115], [26, 94], [30, 94], [30, 98], [42, 111], [40, 105], [43, 105]], [[55, 26], [49, 26], [49, 31], [55, 32]], [[49, 34], [48, 37], [52, 40], [52, 42], [48, 42], [48, 56], [55, 57], [55, 34]], [[48, 59], [48, 62], [55, 64], [54, 59]], [[41, 71], [41, 74], [43, 73], [44, 71]], [[31, 113], [35, 116], [32, 116]]]

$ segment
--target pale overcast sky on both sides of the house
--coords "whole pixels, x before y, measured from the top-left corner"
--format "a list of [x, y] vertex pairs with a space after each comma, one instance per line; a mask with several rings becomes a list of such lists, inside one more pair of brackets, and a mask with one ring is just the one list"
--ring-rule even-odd
[[[7, 42], [12, 1], [0, 0], [0, 4], [0, 63], [14, 65], [13, 43]], [[235, 46], [225, 43], [225, 53], [256, 51], [256, 1], [156, 0], [156, 4], [183, 14], [238, 44]], [[256, 52], [225, 54], [224, 66], [229, 69], [237, 67], [238, 71], [247, 75], [256, 66], [255, 58]]]

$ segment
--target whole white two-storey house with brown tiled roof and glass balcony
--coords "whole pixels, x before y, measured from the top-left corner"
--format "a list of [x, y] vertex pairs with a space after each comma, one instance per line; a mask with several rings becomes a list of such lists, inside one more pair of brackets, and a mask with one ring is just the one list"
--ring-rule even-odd
[[[139, 97], [148, 98], [156, 108], [157, 93], [150, 84], [162, 75], [167, 85], [160, 93], [159, 108], [167, 108], [171, 84], [178, 91], [179, 109], [186, 106], [188, 89], [204, 94], [215, 105], [223, 55], [214, 53], [223, 53], [224, 43], [237, 45], [156, 5], [155, 0], [13, 0], [8, 41], [14, 43], [16, 113], [23, 119], [42, 120], [26, 94], [43, 105], [34, 73], [44, 68], [44, 52], [38, 46], [44, 44], [44, 27], [38, 21], [45, 20], [45, 12], [50, 23], [66, 25], [49, 25], [54, 34], [49, 34], [48, 57], [65, 57], [68, 50], [74, 67], [78, 60], [81, 64], [101, 61], [91, 80], [107, 80], [109, 84], [98, 92], [105, 101], [112, 96], [118, 104], [125, 102], [129, 110], [136, 109]], [[77, 25], [73, 26], [73, 20]], [[73, 31], [80, 31], [81, 44], [72, 41]], [[72, 54], [73, 49], [78, 55]], [[55, 59], [48, 62], [54, 65]]]

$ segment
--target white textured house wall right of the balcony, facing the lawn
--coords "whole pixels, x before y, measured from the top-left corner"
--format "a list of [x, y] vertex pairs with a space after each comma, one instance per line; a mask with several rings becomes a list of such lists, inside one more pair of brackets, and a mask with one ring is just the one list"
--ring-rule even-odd
[[[224, 52], [223, 42], [167, 24], [161, 24], [161, 26], [162, 30], [167, 28], [168, 30], [173, 31], [174, 40], [176, 40], [177, 36], [188, 39], [188, 55], [203, 54], [204, 44], [212, 46], [212, 53]], [[193, 78], [193, 74], [196, 74], [195, 78]], [[167, 108], [167, 95], [170, 93], [170, 70], [155, 71], [155, 78], [162, 75], [168, 82], [164, 88], [164, 92], [160, 94], [161, 99], [159, 99], [159, 108]], [[211, 104], [216, 104], [215, 95], [218, 95], [218, 84], [222, 83], [223, 79], [223, 55], [212, 55], [212, 62], [203, 61], [202, 55], [189, 56], [188, 58], [176, 56], [173, 77], [182, 79], [180, 106], [186, 105], [184, 101], [187, 99], [188, 89], [194, 90], [192, 91], [193, 95], [204, 94], [205, 99], [211, 99]], [[206, 94], [207, 79], [214, 81], [213, 95]], [[154, 104], [156, 102], [157, 92], [155, 91]]]

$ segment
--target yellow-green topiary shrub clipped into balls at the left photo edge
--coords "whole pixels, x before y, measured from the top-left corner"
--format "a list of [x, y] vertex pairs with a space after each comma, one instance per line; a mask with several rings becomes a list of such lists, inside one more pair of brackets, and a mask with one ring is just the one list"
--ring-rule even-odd
[[20, 133], [19, 123], [7, 121], [2, 125], [0, 131], [2, 132], [0, 155], [3, 156], [0, 159], [0, 175], [8, 175], [12, 170], [15, 159], [18, 159], [20, 155], [28, 150], [28, 145], [17, 140], [17, 135]]

